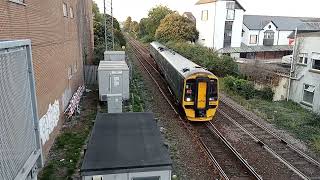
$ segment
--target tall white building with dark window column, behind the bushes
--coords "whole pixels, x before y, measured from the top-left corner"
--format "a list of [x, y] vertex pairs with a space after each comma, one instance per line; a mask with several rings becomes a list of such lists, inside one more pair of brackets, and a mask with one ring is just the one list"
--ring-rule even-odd
[[198, 43], [217, 50], [240, 47], [244, 11], [236, 0], [199, 0], [193, 12]]

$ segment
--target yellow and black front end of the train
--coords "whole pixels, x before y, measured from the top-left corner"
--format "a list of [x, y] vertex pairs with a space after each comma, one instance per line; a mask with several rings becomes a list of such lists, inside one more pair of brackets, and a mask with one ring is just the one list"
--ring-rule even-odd
[[183, 108], [189, 121], [210, 121], [218, 107], [218, 79], [196, 74], [184, 82]]

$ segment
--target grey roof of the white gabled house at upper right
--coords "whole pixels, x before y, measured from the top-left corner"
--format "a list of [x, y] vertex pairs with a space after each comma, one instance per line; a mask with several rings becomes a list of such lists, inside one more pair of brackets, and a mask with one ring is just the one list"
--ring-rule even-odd
[[244, 15], [243, 24], [250, 30], [261, 30], [273, 22], [280, 31], [293, 31], [304, 23], [320, 22], [320, 18]]

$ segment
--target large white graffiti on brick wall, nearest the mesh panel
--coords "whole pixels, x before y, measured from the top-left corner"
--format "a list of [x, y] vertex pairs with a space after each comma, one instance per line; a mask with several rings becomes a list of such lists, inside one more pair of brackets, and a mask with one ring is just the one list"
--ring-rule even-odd
[[49, 140], [49, 135], [58, 125], [59, 116], [59, 101], [55, 100], [54, 104], [49, 104], [47, 113], [44, 116], [42, 116], [42, 118], [39, 121], [39, 131], [42, 144], [45, 144]]

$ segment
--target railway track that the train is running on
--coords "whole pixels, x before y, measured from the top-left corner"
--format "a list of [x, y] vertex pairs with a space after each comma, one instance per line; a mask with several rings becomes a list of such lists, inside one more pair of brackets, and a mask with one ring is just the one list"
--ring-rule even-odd
[[[211, 162], [215, 165], [222, 179], [262, 179], [245, 159], [231, 146], [211, 122], [200, 126], [192, 126], [187, 123], [178, 113], [173, 105], [175, 102], [165, 80], [160, 75], [157, 65], [149, 56], [148, 50], [136, 40], [128, 37], [129, 42], [135, 50], [135, 56], [145, 71], [150, 75], [163, 97], [166, 99], [172, 110], [175, 111], [181, 122], [190, 134], [196, 136], [199, 145], [207, 153]], [[197, 129], [195, 134], [194, 129]]]

